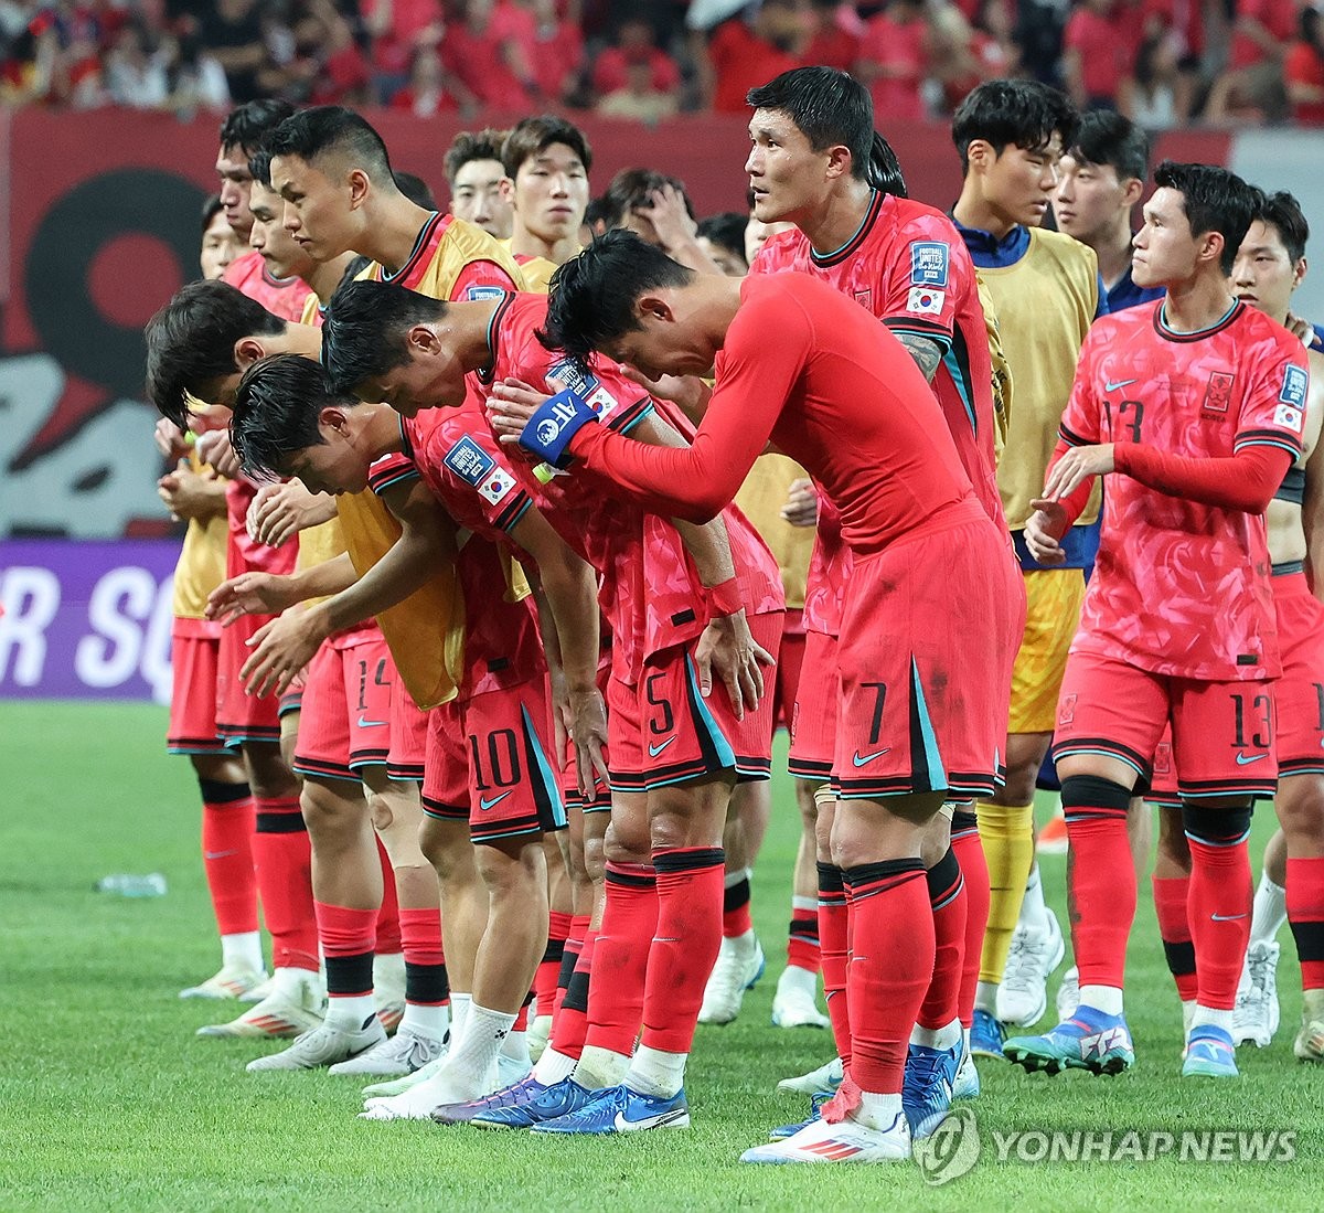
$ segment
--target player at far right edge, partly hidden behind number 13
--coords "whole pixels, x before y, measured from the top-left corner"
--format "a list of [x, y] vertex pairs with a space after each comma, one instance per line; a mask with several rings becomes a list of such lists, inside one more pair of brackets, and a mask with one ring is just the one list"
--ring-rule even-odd
[[[1233, 293], [1286, 326], [1292, 293], [1305, 275], [1308, 238], [1309, 228], [1296, 199], [1290, 193], [1267, 197], [1237, 252], [1230, 279]], [[1301, 457], [1278, 487], [1266, 514], [1283, 657], [1283, 677], [1274, 686], [1279, 772], [1274, 808], [1279, 829], [1264, 848], [1264, 871], [1255, 891], [1233, 1040], [1238, 1045], [1250, 1042], [1263, 1047], [1274, 1037], [1279, 956], [1274, 940], [1287, 919], [1296, 940], [1304, 988], [1301, 1028], [1294, 1051], [1301, 1061], [1324, 1061], [1324, 760], [1320, 756], [1324, 730], [1319, 703], [1319, 686], [1324, 685], [1319, 644], [1324, 634], [1324, 606], [1319, 600], [1324, 465], [1317, 453], [1324, 425], [1324, 356], [1309, 350], [1307, 360], [1311, 383]], [[1190, 853], [1182, 845], [1180, 817], [1174, 820], [1174, 810], [1166, 806], [1161, 812], [1165, 829], [1160, 859], [1169, 869], [1164, 891], [1172, 891], [1173, 919], [1180, 927], [1180, 931], [1164, 930], [1162, 934], [1185, 1008], [1194, 1004], [1197, 984], [1186, 914]], [[1180, 813], [1180, 808], [1176, 812]], [[1156, 879], [1156, 904], [1158, 897]]]

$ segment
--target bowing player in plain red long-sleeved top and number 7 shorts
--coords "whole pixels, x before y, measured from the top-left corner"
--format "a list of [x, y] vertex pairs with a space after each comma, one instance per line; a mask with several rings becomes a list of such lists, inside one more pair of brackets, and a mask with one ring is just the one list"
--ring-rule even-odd
[[[922, 840], [947, 799], [988, 795], [996, 781], [1021, 593], [1006, 539], [910, 355], [826, 283], [695, 274], [612, 232], [557, 271], [547, 338], [572, 358], [606, 355], [651, 377], [715, 367], [703, 424], [690, 449], [646, 448], [609, 433], [573, 395], [539, 407], [507, 384], [495, 389], [507, 441], [702, 520], [771, 440], [841, 511], [857, 554], [841, 625], [831, 840], [850, 907], [850, 1082], [822, 1120], [744, 1159], [907, 1157], [912, 1131], [929, 1132], [945, 1112], [961, 1057], [960, 1038], [929, 1050], [928, 1073], [912, 1069], [903, 1096], [933, 972]], [[953, 596], [953, 583], [984, 592]]]

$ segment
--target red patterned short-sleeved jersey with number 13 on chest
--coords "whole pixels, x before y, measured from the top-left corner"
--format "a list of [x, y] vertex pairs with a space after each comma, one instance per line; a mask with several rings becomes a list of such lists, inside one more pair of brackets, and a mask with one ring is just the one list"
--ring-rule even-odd
[[[1193, 458], [1267, 445], [1295, 461], [1308, 383], [1300, 343], [1254, 307], [1238, 302], [1213, 328], [1177, 334], [1161, 302], [1141, 305], [1090, 330], [1061, 434]], [[1071, 648], [1180, 678], [1278, 677], [1263, 515], [1111, 475]]]

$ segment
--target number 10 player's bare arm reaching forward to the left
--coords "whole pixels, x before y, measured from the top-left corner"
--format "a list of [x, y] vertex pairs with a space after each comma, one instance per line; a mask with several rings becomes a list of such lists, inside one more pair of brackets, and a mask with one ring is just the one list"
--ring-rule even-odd
[[434, 572], [454, 564], [454, 524], [421, 481], [387, 489], [381, 499], [400, 522], [400, 538], [352, 585], [307, 610], [271, 620], [249, 641], [253, 654], [240, 670], [249, 694], [285, 691], [328, 636], [399, 605]]

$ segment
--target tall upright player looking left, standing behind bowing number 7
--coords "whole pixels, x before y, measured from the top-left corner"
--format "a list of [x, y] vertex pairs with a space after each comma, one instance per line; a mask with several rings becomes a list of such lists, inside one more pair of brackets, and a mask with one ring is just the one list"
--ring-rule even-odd
[[[933, 385], [961, 465], [989, 518], [1005, 530], [994, 478], [997, 418], [986, 322], [980, 306], [974, 266], [952, 221], [932, 207], [887, 192], [874, 181], [874, 111], [869, 91], [833, 68], [785, 72], [748, 97], [752, 148], [745, 163], [753, 215], [796, 226], [773, 236], [752, 273], [794, 269], [831, 283], [854, 298], [894, 332]], [[879, 160], [891, 150], [879, 140]], [[891, 158], [894, 160], [894, 158]], [[899, 183], [898, 183], [899, 184]], [[903, 187], [898, 189], [903, 193]], [[801, 679], [800, 727], [793, 738], [793, 772], [814, 783], [821, 809], [820, 931], [824, 985], [829, 1010], [849, 1022], [845, 1001], [846, 904], [841, 874], [830, 861], [831, 792], [825, 776], [833, 760], [835, 650], [841, 587], [850, 577], [851, 554], [841, 542], [831, 510], [818, 520], [816, 560], [837, 587], [816, 600], [810, 614], [809, 677]], [[973, 829], [972, 805], [961, 810], [955, 830], [935, 825], [925, 861], [937, 932], [933, 988], [922, 1008], [919, 1049], [947, 1049], [963, 1034], [961, 989], [967, 949], [984, 936], [984, 858]], [[949, 837], [951, 834], [951, 837]], [[969, 873], [969, 881], [963, 875]], [[973, 984], [969, 993], [973, 993]], [[968, 1010], [964, 1018], [969, 1018]], [[838, 1047], [849, 1040], [842, 1026]], [[923, 1057], [923, 1053], [916, 1054]], [[849, 1069], [849, 1057], [843, 1055]], [[977, 1086], [973, 1065], [963, 1089]]]

